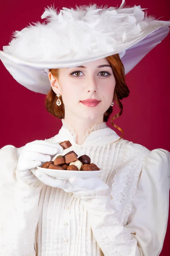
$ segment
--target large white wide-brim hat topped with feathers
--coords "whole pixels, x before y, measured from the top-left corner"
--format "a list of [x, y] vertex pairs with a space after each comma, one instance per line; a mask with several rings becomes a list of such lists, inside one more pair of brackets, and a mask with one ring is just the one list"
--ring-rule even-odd
[[14, 79], [34, 92], [51, 88], [50, 68], [77, 67], [119, 53], [127, 74], [168, 35], [170, 21], [155, 20], [141, 6], [119, 8], [96, 4], [48, 7], [34, 23], [14, 32], [0, 59]]

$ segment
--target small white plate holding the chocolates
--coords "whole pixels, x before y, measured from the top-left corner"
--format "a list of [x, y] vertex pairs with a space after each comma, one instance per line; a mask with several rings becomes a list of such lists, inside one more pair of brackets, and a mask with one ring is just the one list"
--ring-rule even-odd
[[69, 180], [70, 178], [82, 178], [82, 179], [88, 179], [97, 177], [102, 170], [99, 171], [67, 171], [67, 170], [55, 170], [55, 169], [46, 169], [37, 166], [37, 169], [42, 170], [42, 172], [45, 172], [47, 175], [62, 179], [62, 180]]

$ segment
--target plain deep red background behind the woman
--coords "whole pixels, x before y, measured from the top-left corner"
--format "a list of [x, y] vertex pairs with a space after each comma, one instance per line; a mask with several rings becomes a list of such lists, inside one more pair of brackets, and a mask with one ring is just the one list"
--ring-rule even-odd
[[[77, 4], [94, 3], [87, 0], [59, 1], [51, 0], [3, 0], [0, 3], [1, 38], [0, 49], [7, 45], [11, 33], [21, 30], [31, 22], [41, 21], [44, 7], [51, 4], [58, 7], [75, 7]], [[96, 0], [99, 6], [101, 0]], [[119, 6], [122, 0], [104, 2], [103, 5]], [[141, 5], [147, 8], [148, 14], [156, 19], [169, 20], [169, 0], [126, 0], [130, 6]], [[122, 100], [123, 114], [115, 119], [116, 125], [124, 131], [124, 139], [139, 143], [153, 150], [164, 148], [170, 151], [170, 82], [169, 64], [170, 35], [156, 46], [142, 61], [126, 76], [130, 96]], [[34, 93], [18, 84], [0, 62], [0, 148], [4, 145], [21, 147], [33, 140], [44, 140], [53, 137], [61, 128], [61, 120], [49, 114], [44, 107], [45, 95]], [[114, 105], [113, 115], [119, 112]], [[112, 115], [112, 116], [113, 116]], [[111, 125], [111, 119], [108, 121]], [[119, 136], [121, 132], [113, 128]], [[152, 203], [152, 202], [151, 202]], [[161, 256], [170, 255], [170, 218], [167, 234]]]

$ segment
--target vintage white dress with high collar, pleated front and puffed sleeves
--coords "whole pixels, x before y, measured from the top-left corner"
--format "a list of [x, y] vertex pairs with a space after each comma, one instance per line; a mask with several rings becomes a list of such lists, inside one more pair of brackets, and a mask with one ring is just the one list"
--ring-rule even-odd
[[120, 140], [105, 122], [82, 145], [62, 119], [52, 143], [70, 140], [102, 169], [105, 191], [87, 198], [17, 180], [21, 148], [0, 149], [0, 256], [158, 256], [167, 230], [170, 152]]

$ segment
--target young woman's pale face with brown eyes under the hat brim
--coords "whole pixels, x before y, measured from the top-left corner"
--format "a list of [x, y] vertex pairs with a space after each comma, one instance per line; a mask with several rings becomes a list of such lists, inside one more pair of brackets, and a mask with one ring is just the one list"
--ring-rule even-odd
[[[99, 67], [101, 65], [108, 66]], [[106, 58], [91, 61], [83, 66], [60, 68], [58, 81], [51, 85], [54, 85], [54, 92], [62, 96], [65, 114], [95, 121], [110, 107], [116, 81]], [[86, 99], [96, 99], [100, 102], [93, 107], [87, 106], [81, 102]]]

